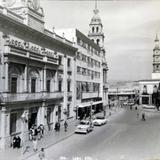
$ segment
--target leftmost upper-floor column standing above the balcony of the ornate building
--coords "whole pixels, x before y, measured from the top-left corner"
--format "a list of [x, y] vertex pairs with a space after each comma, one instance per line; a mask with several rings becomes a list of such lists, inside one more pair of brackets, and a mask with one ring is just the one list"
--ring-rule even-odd
[[8, 88], [8, 67], [9, 67], [9, 62], [8, 62], [8, 57], [5, 57], [5, 61], [4, 61], [4, 71], [5, 71], [5, 92], [9, 92], [9, 88]]

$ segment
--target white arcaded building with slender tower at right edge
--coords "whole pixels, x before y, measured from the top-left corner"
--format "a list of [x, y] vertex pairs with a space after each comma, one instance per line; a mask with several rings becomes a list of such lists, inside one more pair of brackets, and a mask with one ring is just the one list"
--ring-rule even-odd
[[140, 104], [159, 105], [157, 102], [158, 90], [160, 90], [160, 47], [159, 39], [156, 35], [155, 47], [153, 49], [153, 71], [152, 79], [140, 80]]

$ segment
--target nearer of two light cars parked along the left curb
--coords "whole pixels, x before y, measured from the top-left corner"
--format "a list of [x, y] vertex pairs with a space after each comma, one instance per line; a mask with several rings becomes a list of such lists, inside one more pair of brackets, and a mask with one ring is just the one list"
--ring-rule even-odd
[[75, 133], [89, 133], [93, 131], [94, 125], [91, 121], [82, 120], [80, 121], [79, 125], [75, 129]]

